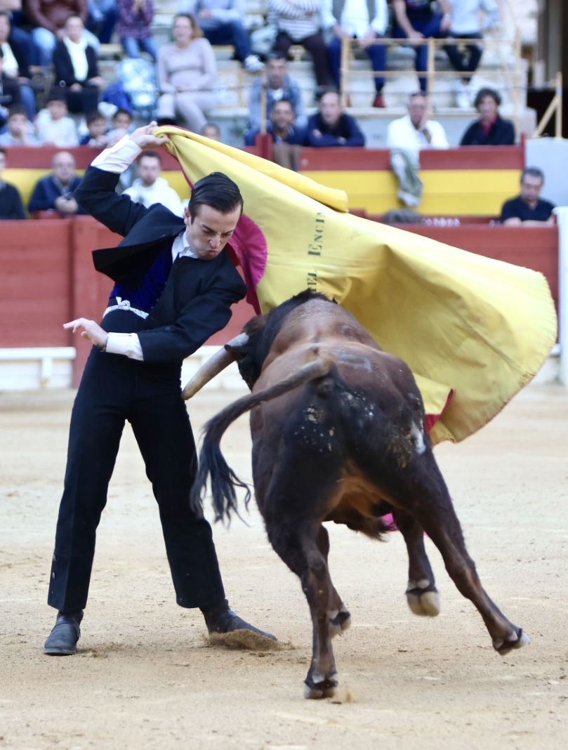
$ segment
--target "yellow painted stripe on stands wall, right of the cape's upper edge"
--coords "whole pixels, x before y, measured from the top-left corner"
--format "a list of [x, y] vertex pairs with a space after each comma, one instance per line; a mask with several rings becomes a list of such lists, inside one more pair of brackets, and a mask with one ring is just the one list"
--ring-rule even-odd
[[[345, 190], [350, 208], [365, 208], [369, 214], [382, 214], [399, 208], [395, 175], [386, 171], [302, 172], [328, 187]], [[518, 194], [518, 169], [425, 169], [423, 214], [499, 214], [506, 199]]]

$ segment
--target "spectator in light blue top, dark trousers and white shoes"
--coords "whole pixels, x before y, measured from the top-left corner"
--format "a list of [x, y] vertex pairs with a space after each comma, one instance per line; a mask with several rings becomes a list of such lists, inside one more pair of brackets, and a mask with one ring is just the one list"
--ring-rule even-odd
[[[483, 23], [480, 23], [480, 11], [484, 11]], [[499, 8], [495, 0], [452, 0], [452, 23], [449, 26], [448, 40], [482, 39], [482, 31], [495, 26], [499, 20]], [[456, 86], [456, 104], [461, 110], [471, 107], [471, 74], [475, 73], [483, 47], [481, 44], [447, 44], [446, 49], [452, 68], [459, 73], [469, 74], [458, 78]]]

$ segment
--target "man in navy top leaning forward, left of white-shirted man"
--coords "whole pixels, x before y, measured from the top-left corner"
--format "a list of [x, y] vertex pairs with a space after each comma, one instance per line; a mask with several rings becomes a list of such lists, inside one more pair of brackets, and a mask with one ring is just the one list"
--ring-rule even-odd
[[305, 145], [314, 148], [363, 146], [363, 135], [355, 118], [344, 113], [338, 92], [323, 92], [319, 110], [308, 119]]

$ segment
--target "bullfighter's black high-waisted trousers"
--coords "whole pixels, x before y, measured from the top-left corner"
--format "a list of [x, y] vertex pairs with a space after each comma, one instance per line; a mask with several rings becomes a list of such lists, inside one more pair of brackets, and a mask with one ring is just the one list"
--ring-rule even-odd
[[96, 348], [71, 415], [48, 604], [65, 612], [86, 605], [96, 529], [127, 419], [158, 501], [177, 603], [217, 604], [224, 589], [211, 526], [189, 505], [197, 458], [179, 367], [146, 365]]

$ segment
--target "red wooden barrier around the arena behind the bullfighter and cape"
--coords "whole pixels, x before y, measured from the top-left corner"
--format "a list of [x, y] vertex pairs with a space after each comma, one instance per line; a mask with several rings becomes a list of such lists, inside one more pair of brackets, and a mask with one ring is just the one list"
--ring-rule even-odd
[[[486, 257], [526, 266], [545, 275], [554, 301], [558, 296], [556, 226], [425, 226], [403, 227]], [[100, 320], [112, 281], [95, 272], [91, 251], [119, 242], [88, 216], [72, 219], [2, 222], [0, 274], [0, 347], [68, 347], [77, 349], [77, 384], [89, 344], [65, 332], [74, 317]], [[247, 302], [233, 308], [224, 331], [207, 344], [223, 344], [254, 315]]]

